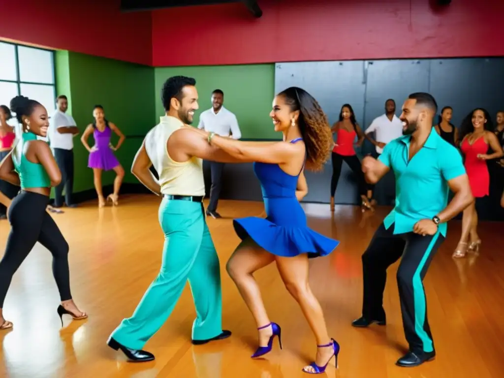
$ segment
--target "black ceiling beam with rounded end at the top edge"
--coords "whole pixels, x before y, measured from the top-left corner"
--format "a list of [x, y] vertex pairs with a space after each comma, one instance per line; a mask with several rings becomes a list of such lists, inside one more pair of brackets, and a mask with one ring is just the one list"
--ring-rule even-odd
[[121, 0], [121, 12], [152, 11], [175, 7], [195, 7], [226, 3], [243, 3], [254, 17], [261, 17], [263, 11], [257, 0]]

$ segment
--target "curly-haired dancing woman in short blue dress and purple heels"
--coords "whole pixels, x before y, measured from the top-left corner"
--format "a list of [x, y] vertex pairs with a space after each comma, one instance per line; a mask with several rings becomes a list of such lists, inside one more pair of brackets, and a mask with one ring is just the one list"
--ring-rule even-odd
[[[254, 272], [275, 262], [287, 290], [299, 303], [317, 339], [317, 357], [303, 371], [323, 372], [338, 355], [339, 345], [327, 333], [324, 314], [308, 283], [308, 257], [329, 255], [338, 241], [306, 226], [299, 201], [308, 187], [303, 170], [320, 170], [333, 145], [327, 117], [318, 102], [306, 91], [291, 87], [279, 93], [270, 113], [275, 131], [283, 142], [241, 142], [204, 134], [212, 146], [235, 157], [255, 161], [254, 170], [263, 188], [266, 219], [236, 219], [234, 228], [242, 242], [227, 263], [227, 271], [252, 312], [259, 330], [259, 348], [252, 357], [272, 349], [280, 326], [266, 313]], [[201, 133], [200, 131], [198, 131]]]

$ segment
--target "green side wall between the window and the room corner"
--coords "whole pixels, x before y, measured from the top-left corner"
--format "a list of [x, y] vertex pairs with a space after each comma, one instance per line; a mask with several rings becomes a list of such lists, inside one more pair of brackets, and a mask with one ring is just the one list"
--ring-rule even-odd
[[[94, 188], [93, 172], [88, 168], [88, 151], [80, 136], [93, 122], [94, 105], [104, 107], [107, 119], [126, 136], [115, 152], [124, 167], [124, 182], [138, 182], [130, 173], [133, 158], [143, 136], [155, 125], [154, 68], [69, 51], [57, 51], [55, 57], [56, 91], [69, 98], [69, 113], [81, 134], [74, 139], [74, 193]], [[117, 143], [112, 137], [112, 143]], [[93, 145], [93, 137], [88, 140]], [[103, 185], [111, 184], [113, 171], [103, 173]]]

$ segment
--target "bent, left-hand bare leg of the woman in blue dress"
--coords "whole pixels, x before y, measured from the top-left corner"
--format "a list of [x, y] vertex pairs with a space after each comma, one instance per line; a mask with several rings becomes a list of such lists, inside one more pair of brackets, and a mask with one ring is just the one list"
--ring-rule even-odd
[[[238, 245], [226, 265], [229, 276], [252, 312], [258, 328], [269, 324], [270, 319], [264, 307], [261, 291], [252, 274], [274, 260], [275, 257], [272, 254], [258, 246], [253, 240], [245, 239]], [[259, 346], [267, 346], [271, 335], [273, 335], [271, 327], [259, 330]]]

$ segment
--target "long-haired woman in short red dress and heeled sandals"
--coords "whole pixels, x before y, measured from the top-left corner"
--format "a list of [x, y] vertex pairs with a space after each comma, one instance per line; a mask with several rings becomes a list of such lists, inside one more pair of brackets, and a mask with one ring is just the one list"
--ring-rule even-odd
[[[464, 166], [471, 191], [475, 198], [488, 196], [490, 190], [490, 174], [486, 160], [504, 156], [502, 147], [493, 133], [493, 123], [490, 114], [483, 108], [476, 108], [469, 113], [460, 128], [462, 143], [460, 149], [465, 156]], [[492, 150], [488, 154], [488, 150]], [[477, 251], [481, 239], [477, 232], [478, 214], [474, 202], [462, 214], [462, 234], [454, 257], [464, 257], [467, 250]], [[470, 244], [467, 242], [470, 238]]]

